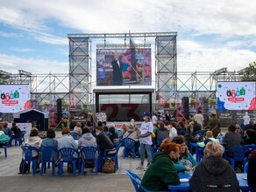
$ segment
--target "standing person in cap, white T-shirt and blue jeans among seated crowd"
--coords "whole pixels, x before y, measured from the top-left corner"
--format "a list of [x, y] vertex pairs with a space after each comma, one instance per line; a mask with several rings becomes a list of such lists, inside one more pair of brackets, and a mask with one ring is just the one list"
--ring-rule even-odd
[[[144, 122], [139, 128], [139, 153], [140, 153], [140, 165], [136, 169], [144, 169], [149, 167], [152, 161], [151, 145], [153, 133], [153, 123], [150, 118], [150, 113], [145, 112], [142, 114]], [[147, 154], [147, 166], [144, 168], [145, 151]]]

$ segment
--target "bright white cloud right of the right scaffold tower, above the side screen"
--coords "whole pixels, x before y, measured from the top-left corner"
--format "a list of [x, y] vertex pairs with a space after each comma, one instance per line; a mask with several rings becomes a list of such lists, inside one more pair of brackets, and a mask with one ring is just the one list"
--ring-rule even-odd
[[214, 72], [227, 67], [228, 71], [239, 71], [252, 61], [256, 53], [245, 49], [220, 47], [209, 48], [194, 41], [180, 41], [178, 45], [178, 71]]

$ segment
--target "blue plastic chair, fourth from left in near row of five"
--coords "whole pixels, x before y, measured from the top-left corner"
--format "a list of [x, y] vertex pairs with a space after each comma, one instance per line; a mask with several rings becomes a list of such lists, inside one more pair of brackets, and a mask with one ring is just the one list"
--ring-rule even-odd
[[96, 175], [98, 174], [98, 155], [99, 148], [98, 147], [82, 147], [81, 151], [81, 159], [82, 159], [82, 175], [84, 175], [84, 168], [86, 167], [87, 161], [94, 161]]

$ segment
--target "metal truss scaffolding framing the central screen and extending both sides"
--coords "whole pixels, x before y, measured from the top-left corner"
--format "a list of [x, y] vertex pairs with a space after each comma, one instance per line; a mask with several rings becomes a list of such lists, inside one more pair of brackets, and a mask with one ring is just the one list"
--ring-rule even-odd
[[[0, 84], [30, 84], [31, 107], [49, 112], [49, 125], [56, 126], [60, 123], [58, 113], [62, 116], [69, 113], [73, 120], [76, 116], [88, 119], [88, 114], [96, 113], [93, 90], [96, 82], [93, 80], [91, 66], [92, 62], [96, 65], [96, 61], [92, 50], [116, 48], [117, 45], [120, 48], [129, 47], [133, 39], [139, 47], [155, 45], [155, 71], [152, 72], [155, 75], [153, 112], [170, 111], [188, 119], [189, 110], [181, 112], [179, 103], [188, 105], [201, 99], [200, 102], [209, 104], [203, 106], [207, 119], [210, 110], [216, 108], [217, 81], [241, 81], [247, 71], [228, 72], [224, 67], [215, 72], [178, 72], [176, 36], [177, 32], [68, 34], [68, 74], [32, 74], [23, 70], [18, 70], [18, 74], [11, 74], [0, 70]], [[129, 92], [129, 88], [124, 89]], [[58, 103], [58, 99], [61, 102]], [[58, 104], [61, 112], [57, 110]], [[237, 116], [232, 116], [238, 119]]]

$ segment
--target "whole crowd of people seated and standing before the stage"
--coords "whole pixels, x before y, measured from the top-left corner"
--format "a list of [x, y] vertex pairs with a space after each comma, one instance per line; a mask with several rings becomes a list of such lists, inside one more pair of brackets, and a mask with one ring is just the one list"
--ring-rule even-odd
[[[108, 127], [106, 122], [98, 122], [96, 127], [93, 127], [91, 123], [87, 123], [82, 127], [82, 123], [77, 122], [73, 129], [73, 132], [79, 135], [77, 142], [70, 135], [68, 127], [62, 129], [62, 136], [58, 140], [55, 139], [56, 135], [53, 129], [48, 129], [46, 138], [42, 139], [39, 136], [39, 130], [33, 127], [25, 145], [56, 147], [58, 150], [63, 147], [72, 147], [75, 150], [82, 147], [99, 147], [99, 153], [103, 155], [105, 149], [115, 148], [116, 141], [131, 138], [135, 143], [136, 156], [140, 158], [139, 166], [136, 169], [146, 171], [141, 185], [148, 190], [167, 190], [167, 185], [180, 183], [179, 173], [186, 173], [193, 174], [189, 179], [189, 185], [193, 191], [207, 191], [210, 188], [239, 191], [235, 170], [231, 168], [228, 161], [224, 160], [223, 154], [225, 149], [230, 150], [235, 146], [256, 144], [255, 127], [243, 129], [238, 125], [231, 125], [223, 136], [220, 131], [220, 120], [215, 111], [211, 113], [207, 127], [203, 127], [201, 111], [196, 113], [193, 120], [179, 122], [171, 121], [168, 118], [164, 120], [153, 118], [152, 120], [151, 113], [148, 112], [143, 113], [142, 116], [144, 121], [140, 126], [131, 120], [130, 123], [124, 123], [119, 133], [114, 124], [110, 124]], [[198, 134], [198, 131], [201, 131], [201, 134]], [[20, 132], [15, 123], [12, 123], [11, 128], [8, 127], [8, 124], [0, 125], [0, 145], [8, 143], [11, 136], [18, 137]], [[2, 139], [4, 135], [6, 135], [5, 140]], [[204, 148], [202, 161], [196, 161], [192, 151], [189, 151], [188, 145], [191, 142]], [[32, 153], [35, 158], [39, 155], [37, 151]], [[53, 158], [57, 162], [60, 156], [56, 153]], [[255, 161], [256, 154], [252, 155], [248, 161], [248, 183], [252, 186], [253, 183], [256, 183], [254, 179]], [[38, 161], [37, 168], [39, 168], [39, 163], [40, 161]], [[70, 168], [69, 165], [68, 168]]]

